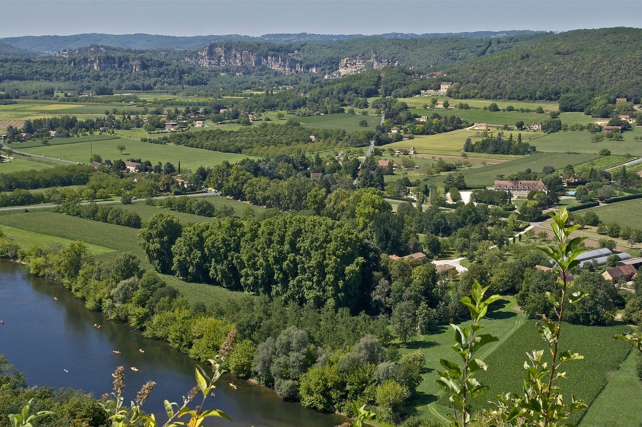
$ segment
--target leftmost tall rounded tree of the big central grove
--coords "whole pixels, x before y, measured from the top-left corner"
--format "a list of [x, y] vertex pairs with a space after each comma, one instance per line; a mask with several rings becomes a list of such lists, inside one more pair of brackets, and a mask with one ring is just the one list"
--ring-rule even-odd
[[159, 272], [171, 272], [173, 262], [171, 247], [182, 232], [182, 224], [176, 215], [157, 213], [138, 233], [150, 264]]

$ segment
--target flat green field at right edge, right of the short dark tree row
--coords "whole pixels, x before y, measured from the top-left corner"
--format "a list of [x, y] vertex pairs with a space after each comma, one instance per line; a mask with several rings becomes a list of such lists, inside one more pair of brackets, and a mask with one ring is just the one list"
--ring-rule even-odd
[[561, 131], [544, 135], [531, 142], [537, 151], [566, 153], [597, 153], [607, 148], [614, 155], [642, 156], [642, 141], [634, 140], [634, 137], [642, 137], [642, 126], [626, 131], [622, 134], [621, 141], [603, 139], [599, 142], [591, 142], [593, 134], [588, 131]]

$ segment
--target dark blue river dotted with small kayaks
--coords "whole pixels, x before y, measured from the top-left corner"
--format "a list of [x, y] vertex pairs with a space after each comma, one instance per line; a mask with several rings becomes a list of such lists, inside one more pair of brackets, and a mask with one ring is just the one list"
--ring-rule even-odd
[[[4, 321], [0, 324], [0, 354], [25, 374], [28, 385], [71, 387], [100, 398], [112, 392], [111, 374], [123, 365], [125, 402], [134, 399], [147, 380], [156, 381], [143, 409], [166, 419], [162, 399], [182, 403], [182, 396], [196, 384], [194, 360], [165, 342], [144, 338], [128, 324], [87, 310], [81, 299], [61, 285], [30, 276], [20, 265], [2, 259], [0, 320]], [[121, 354], [112, 353], [115, 349]], [[229, 385], [232, 381], [236, 390]], [[216, 382], [214, 392], [215, 398], [208, 398], [205, 408], [225, 411], [234, 423], [211, 418], [205, 423], [208, 426], [331, 427], [345, 421], [339, 415], [281, 401], [272, 390], [227, 376]]]

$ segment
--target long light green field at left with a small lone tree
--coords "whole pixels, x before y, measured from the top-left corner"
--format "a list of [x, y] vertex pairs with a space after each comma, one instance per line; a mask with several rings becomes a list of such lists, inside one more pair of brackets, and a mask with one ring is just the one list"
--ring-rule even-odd
[[[118, 144], [126, 146], [123, 155], [116, 149]], [[94, 154], [99, 154], [103, 160], [142, 158], [143, 160], [150, 160], [152, 163], [171, 162], [175, 166], [177, 166], [180, 161], [180, 165], [184, 171], [187, 171], [187, 169], [195, 170], [199, 166], [211, 167], [220, 164], [223, 160], [234, 163], [243, 158], [251, 157], [200, 148], [174, 146], [171, 144], [153, 144], [151, 142], [141, 142], [132, 139], [78, 142], [78, 144], [35, 147], [29, 149], [28, 153], [37, 156], [46, 155], [71, 160], [73, 162], [86, 163], [91, 156], [92, 149]]]

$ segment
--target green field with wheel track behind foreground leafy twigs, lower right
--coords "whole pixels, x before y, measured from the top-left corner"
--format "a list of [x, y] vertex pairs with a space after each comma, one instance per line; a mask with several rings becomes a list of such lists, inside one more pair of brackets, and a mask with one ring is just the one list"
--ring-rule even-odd
[[[493, 401], [500, 392], [518, 392], [525, 377], [523, 363], [526, 360], [526, 351], [544, 348], [544, 341], [535, 329], [535, 322], [526, 319], [523, 314], [517, 312], [512, 297], [502, 299], [496, 304], [501, 308], [489, 314], [488, 317], [492, 320], [484, 322], [483, 326], [485, 333], [491, 333], [498, 337], [499, 341], [483, 347], [477, 355], [489, 367], [486, 373], [477, 374], [476, 378], [484, 385], [488, 385], [490, 389], [473, 402], [473, 407], [476, 410], [489, 407], [487, 401]], [[468, 325], [469, 322], [465, 324]], [[612, 338], [612, 335], [620, 333], [621, 329], [621, 326], [599, 327], [564, 324], [560, 347], [573, 349], [573, 351], [585, 356], [584, 360], [569, 362], [566, 365], [569, 379], [560, 383], [566, 394], [573, 392], [578, 398], [586, 399], [589, 405], [600, 394], [612, 374], [618, 370], [620, 364], [629, 355], [630, 346]], [[451, 348], [453, 338], [452, 328], [441, 327], [431, 335], [419, 335], [401, 350], [402, 353], [406, 353], [420, 349], [426, 355], [427, 369], [422, 374], [423, 381], [417, 389], [417, 397], [410, 403], [414, 414], [429, 417], [435, 421], [445, 421], [446, 417], [451, 414], [451, 406], [435, 380], [438, 378], [437, 371], [442, 369], [439, 359], [456, 360], [457, 358]], [[626, 368], [621, 376], [626, 376], [629, 373], [630, 369]], [[614, 377], [614, 379], [617, 378]], [[611, 383], [608, 383], [607, 387], [611, 387]], [[639, 388], [639, 381], [638, 389], [636, 390], [635, 387], [636, 385], [633, 384], [627, 389], [629, 390], [628, 394], [620, 394], [622, 399], [620, 403], [623, 407], [636, 408], [640, 405], [633, 402], [636, 399], [639, 400], [638, 397], [642, 392], [642, 388]], [[634, 391], [637, 391], [637, 394]], [[632, 406], [629, 406], [629, 403]], [[576, 423], [577, 419], [578, 416], [575, 418]], [[600, 420], [601, 418], [597, 415], [596, 419]]]

